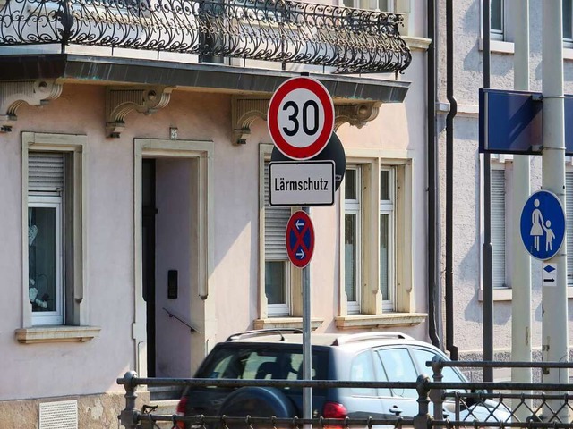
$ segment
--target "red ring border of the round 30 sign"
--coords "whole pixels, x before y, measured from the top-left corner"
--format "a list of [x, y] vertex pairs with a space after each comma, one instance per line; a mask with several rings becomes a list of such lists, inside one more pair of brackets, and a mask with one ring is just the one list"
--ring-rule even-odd
[[[282, 100], [295, 89], [308, 89], [321, 101], [324, 109], [324, 127], [319, 137], [307, 147], [295, 147], [283, 139], [278, 130], [278, 106]], [[327, 108], [329, 106], [329, 108]], [[334, 104], [329, 91], [320, 81], [304, 76], [291, 78], [283, 82], [270, 98], [269, 111], [267, 113], [270, 138], [283, 155], [291, 159], [304, 161], [321, 153], [321, 150], [329, 143], [330, 135], [334, 130]]]

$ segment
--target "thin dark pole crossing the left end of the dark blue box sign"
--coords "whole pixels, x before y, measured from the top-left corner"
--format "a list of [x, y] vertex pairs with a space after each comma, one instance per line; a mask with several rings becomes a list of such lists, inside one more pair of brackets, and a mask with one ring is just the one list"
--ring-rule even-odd
[[[490, 1], [483, 1], [483, 88], [490, 88]], [[493, 360], [492, 164], [483, 154], [483, 360]], [[493, 368], [483, 368], [483, 381], [493, 381]]]

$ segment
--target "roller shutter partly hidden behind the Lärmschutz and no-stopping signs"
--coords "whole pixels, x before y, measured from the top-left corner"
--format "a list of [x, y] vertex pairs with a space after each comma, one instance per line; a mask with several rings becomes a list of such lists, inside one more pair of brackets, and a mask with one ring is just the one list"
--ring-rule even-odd
[[265, 260], [286, 261], [286, 223], [290, 218], [290, 207], [269, 205], [269, 163], [265, 163]]

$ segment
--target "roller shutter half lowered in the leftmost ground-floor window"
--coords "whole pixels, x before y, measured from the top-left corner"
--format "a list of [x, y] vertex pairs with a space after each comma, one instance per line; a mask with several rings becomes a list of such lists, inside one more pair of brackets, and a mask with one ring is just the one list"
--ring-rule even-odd
[[57, 152], [30, 152], [28, 189], [44, 192], [64, 189], [64, 155]]

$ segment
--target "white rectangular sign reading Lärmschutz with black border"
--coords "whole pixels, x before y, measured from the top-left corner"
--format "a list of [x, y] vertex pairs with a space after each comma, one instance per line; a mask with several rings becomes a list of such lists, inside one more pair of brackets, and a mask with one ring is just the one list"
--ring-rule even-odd
[[269, 163], [270, 206], [332, 206], [334, 161]]

